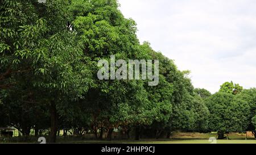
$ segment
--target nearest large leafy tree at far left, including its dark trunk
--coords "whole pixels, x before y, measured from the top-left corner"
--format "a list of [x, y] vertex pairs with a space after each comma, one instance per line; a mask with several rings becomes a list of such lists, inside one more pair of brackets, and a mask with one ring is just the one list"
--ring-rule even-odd
[[20, 91], [24, 105], [39, 103], [48, 108], [52, 143], [56, 141], [58, 108], [81, 98], [92, 83], [88, 61], [75, 41], [77, 34], [67, 28], [71, 20], [68, 6], [68, 1], [0, 2], [0, 87], [7, 94]]

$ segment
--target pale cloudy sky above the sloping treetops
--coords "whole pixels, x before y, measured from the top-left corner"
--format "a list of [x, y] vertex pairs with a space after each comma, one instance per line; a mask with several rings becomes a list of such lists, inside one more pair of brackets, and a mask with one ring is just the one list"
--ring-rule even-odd
[[226, 81], [256, 87], [255, 0], [119, 0], [138, 38], [191, 70], [193, 86], [211, 93]]

